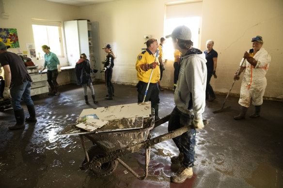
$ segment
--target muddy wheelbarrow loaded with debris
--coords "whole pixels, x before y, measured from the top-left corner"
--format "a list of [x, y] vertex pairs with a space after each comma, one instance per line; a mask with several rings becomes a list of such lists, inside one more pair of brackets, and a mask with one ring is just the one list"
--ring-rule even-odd
[[[85, 159], [80, 164], [81, 170], [88, 169], [96, 176], [106, 176], [111, 174], [116, 169], [118, 163], [120, 163], [135, 177], [143, 180], [148, 175], [151, 146], [172, 139], [191, 129], [190, 126], [186, 126], [151, 138], [150, 130], [169, 121], [170, 115], [155, 122], [154, 109], [150, 108], [150, 102], [143, 103], [147, 103], [147, 107], [145, 108], [149, 108], [150, 110], [148, 117], [136, 117], [134, 121], [127, 121], [125, 118], [112, 121], [111, 126], [113, 126], [113, 124], [126, 124], [127, 126], [134, 124], [132, 127], [135, 129], [130, 129], [130, 126], [128, 126], [126, 130], [101, 131], [101, 129], [97, 129], [95, 131], [83, 131], [75, 127], [76, 124], [70, 124], [60, 133], [61, 135], [79, 135], [85, 154]], [[141, 105], [143, 103], [136, 104]], [[204, 120], [204, 124], [207, 124], [206, 120]], [[86, 149], [85, 138], [93, 143], [88, 149]], [[120, 158], [142, 149], [145, 149], [145, 165], [144, 175], [140, 176]]]

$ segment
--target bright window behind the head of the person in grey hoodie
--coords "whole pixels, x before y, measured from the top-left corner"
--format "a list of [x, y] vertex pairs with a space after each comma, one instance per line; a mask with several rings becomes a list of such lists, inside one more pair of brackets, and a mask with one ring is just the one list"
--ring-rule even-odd
[[[169, 35], [176, 27], [185, 25], [191, 30], [191, 41], [193, 42], [193, 47], [198, 48], [200, 20], [201, 17], [181, 17], [166, 19], [164, 35]], [[174, 60], [174, 49], [172, 39], [167, 39], [163, 46], [164, 58]]]

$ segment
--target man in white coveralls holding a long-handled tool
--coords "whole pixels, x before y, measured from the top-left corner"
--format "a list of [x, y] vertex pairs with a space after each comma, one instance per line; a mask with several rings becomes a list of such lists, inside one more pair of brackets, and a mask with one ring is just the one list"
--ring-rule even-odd
[[251, 100], [255, 107], [255, 112], [250, 117], [256, 118], [260, 116], [263, 95], [267, 87], [265, 75], [271, 61], [270, 55], [262, 45], [263, 40], [261, 36], [252, 38], [252, 49], [244, 53], [244, 62], [234, 75], [234, 80], [239, 80], [240, 73], [245, 70], [238, 102], [241, 105], [241, 111], [238, 116], [234, 116], [235, 120], [245, 118]]

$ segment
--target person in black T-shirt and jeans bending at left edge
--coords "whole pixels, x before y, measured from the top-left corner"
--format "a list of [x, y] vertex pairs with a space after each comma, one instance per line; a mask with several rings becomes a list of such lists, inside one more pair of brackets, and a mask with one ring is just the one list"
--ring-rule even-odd
[[[21, 107], [21, 99], [27, 105], [30, 117], [27, 122], [36, 122], [35, 109], [31, 100], [31, 76], [27, 71], [22, 59], [15, 53], [8, 52], [6, 46], [0, 42], [0, 63], [4, 69], [5, 87], [4, 99], [11, 99], [11, 104], [16, 117], [16, 125], [10, 126], [10, 130], [25, 128], [25, 113]], [[11, 88], [10, 88], [11, 87]]]

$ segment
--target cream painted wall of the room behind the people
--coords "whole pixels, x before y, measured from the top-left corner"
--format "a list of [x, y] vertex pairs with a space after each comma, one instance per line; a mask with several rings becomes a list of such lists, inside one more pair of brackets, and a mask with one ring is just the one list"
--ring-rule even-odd
[[[26, 43], [33, 43], [31, 18], [98, 21], [100, 46], [105, 43], [117, 46], [112, 80], [134, 84], [138, 81], [136, 59], [145, 48], [143, 35], [150, 34], [157, 39], [163, 36], [165, 2], [170, 1], [176, 0], [118, 0], [75, 7], [44, 0], [3, 0], [5, 12], [10, 17], [7, 20], [0, 18], [0, 28], [16, 28], [23, 51]], [[219, 53], [219, 77], [217, 80], [212, 78], [211, 82], [215, 91], [228, 92], [244, 51], [252, 47], [251, 38], [261, 35], [264, 48], [272, 58], [265, 96], [283, 99], [282, 8], [282, 0], [203, 0], [200, 48], [205, 50], [208, 39], [215, 41], [214, 48]], [[104, 57], [104, 50], [101, 49], [100, 54]], [[161, 86], [173, 87], [172, 61], [166, 64]], [[239, 93], [239, 88], [238, 81], [232, 93]]]

